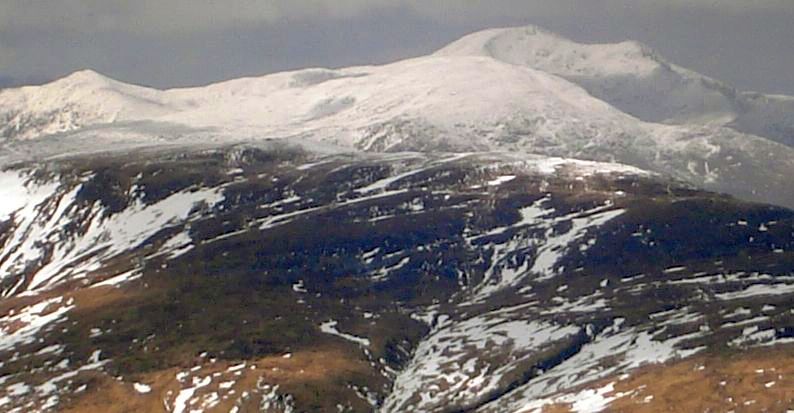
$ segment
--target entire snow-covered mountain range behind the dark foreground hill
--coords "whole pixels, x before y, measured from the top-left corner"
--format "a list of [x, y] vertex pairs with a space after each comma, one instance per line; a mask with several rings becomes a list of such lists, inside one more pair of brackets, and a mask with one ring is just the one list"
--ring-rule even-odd
[[[659, 76], [678, 80], [665, 86]], [[375, 152], [520, 151], [622, 162], [794, 206], [794, 191], [780, 190], [794, 175], [794, 148], [737, 131], [755, 131], [747, 125], [756, 122], [781, 131], [774, 138], [786, 143], [784, 121], [793, 112], [769, 109], [783, 119], [775, 123], [745, 111], [755, 120], [732, 129], [741, 116], [729, 108], [741, 105], [729, 92], [636, 43], [579, 45], [529, 27], [477, 33], [384, 66], [198, 88], [160, 91], [78, 72], [0, 91], [0, 118], [10, 160], [278, 138]]]

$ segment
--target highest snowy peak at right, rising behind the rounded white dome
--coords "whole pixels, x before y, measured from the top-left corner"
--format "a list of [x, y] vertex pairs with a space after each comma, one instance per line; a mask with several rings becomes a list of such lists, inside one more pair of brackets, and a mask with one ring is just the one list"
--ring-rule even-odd
[[737, 91], [637, 42], [582, 44], [528, 26], [474, 33], [436, 55], [490, 56], [553, 73], [645, 121], [723, 125], [794, 145], [794, 98]]

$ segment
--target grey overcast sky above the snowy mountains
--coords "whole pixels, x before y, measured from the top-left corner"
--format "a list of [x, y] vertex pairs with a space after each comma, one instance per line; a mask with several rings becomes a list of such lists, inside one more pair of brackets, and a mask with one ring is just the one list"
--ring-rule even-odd
[[0, 0], [0, 87], [90, 68], [156, 87], [385, 63], [488, 27], [646, 43], [794, 95], [794, 0]]

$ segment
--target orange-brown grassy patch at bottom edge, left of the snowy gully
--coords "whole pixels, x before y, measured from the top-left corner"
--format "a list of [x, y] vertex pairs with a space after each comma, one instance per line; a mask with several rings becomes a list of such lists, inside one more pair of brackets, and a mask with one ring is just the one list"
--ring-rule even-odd
[[[196, 404], [188, 408], [198, 408], [202, 400], [216, 393], [219, 402], [205, 409], [210, 412], [228, 412], [237, 406], [240, 412], [260, 411], [262, 395], [267, 393], [259, 385], [279, 386], [279, 394], [291, 395], [301, 411], [335, 410], [337, 404], [352, 407], [355, 411], [365, 411], [363, 400], [356, 400], [352, 390], [343, 383], [351, 375], [367, 373], [366, 364], [355, 360], [343, 348], [330, 346], [327, 351], [307, 351], [292, 354], [290, 358], [266, 357], [249, 362], [246, 367], [230, 371], [235, 363], [211, 362], [204, 360], [198, 364], [200, 369], [168, 369], [147, 373], [136, 377], [138, 382], [151, 386], [151, 392], [138, 393], [128, 381], [117, 381], [107, 375], [94, 375], [88, 378], [88, 390], [73, 397], [61, 411], [68, 413], [127, 413], [127, 412], [165, 412], [165, 405], [173, 408], [180, 389], [191, 386], [192, 377], [211, 376], [212, 382], [198, 389], [191, 400]], [[197, 367], [198, 367], [197, 366]], [[179, 372], [189, 372], [183, 382], [177, 380]], [[222, 388], [221, 383], [233, 383]], [[250, 396], [241, 398], [248, 393]], [[322, 395], [322, 400], [317, 400]], [[335, 395], [335, 396], [334, 396]], [[349, 405], [353, 400], [353, 405]]]

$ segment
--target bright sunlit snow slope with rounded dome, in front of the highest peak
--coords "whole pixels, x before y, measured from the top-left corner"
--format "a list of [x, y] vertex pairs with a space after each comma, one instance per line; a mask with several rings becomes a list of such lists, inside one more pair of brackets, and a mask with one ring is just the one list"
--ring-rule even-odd
[[476, 56], [309, 69], [168, 91], [79, 72], [42, 87], [6, 91], [0, 101], [4, 117], [11, 119], [9, 137], [146, 120], [215, 128], [229, 135], [310, 133], [377, 150], [400, 143], [378, 140], [396, 127], [404, 129], [397, 134], [402, 138], [437, 131], [454, 140], [455, 147], [485, 148], [481, 132], [510, 133], [508, 127], [515, 124], [551, 137], [609, 133], [632, 121], [554, 75]]

